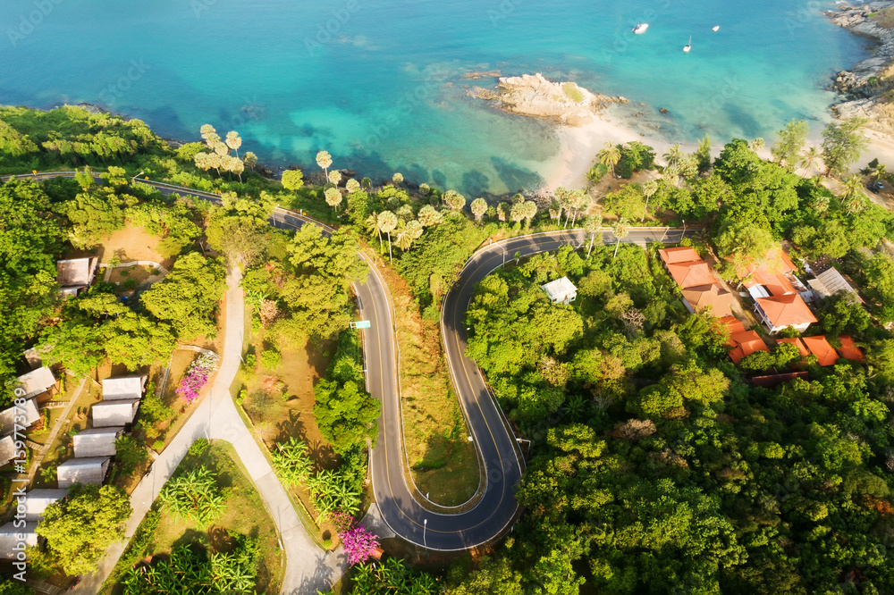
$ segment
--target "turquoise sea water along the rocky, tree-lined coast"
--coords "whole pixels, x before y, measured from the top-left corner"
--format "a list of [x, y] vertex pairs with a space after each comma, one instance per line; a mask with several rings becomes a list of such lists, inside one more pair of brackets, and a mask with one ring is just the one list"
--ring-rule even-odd
[[[325, 148], [363, 175], [503, 193], [535, 187], [559, 141], [469, 99], [495, 80], [464, 74], [541, 71], [623, 95], [647, 105], [632, 122], [650, 136], [769, 139], [793, 117], [819, 129], [831, 72], [867, 54], [818, 13], [833, 5], [4, 0], [0, 104], [97, 103], [181, 139], [210, 122], [266, 163], [310, 165]], [[638, 21], [645, 35], [630, 32]]]

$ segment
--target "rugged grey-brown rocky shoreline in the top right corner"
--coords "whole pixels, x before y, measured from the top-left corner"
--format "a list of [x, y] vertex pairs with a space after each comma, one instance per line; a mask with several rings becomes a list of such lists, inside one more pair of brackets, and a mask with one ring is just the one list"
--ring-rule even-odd
[[832, 113], [845, 120], [869, 118], [869, 128], [894, 135], [894, 104], [887, 98], [894, 89], [894, 0], [842, 5], [825, 14], [839, 27], [878, 43], [871, 58], [835, 75], [832, 88], [847, 100], [832, 105]]

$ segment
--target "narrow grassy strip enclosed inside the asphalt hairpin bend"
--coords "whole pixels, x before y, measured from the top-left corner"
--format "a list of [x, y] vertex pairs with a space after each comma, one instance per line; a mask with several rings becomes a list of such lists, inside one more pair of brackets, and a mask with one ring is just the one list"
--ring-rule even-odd
[[451, 390], [440, 329], [419, 314], [401, 276], [391, 269], [382, 273], [392, 292], [401, 345], [401, 406], [410, 473], [428, 499], [458, 506], [475, 494], [480, 471]]

